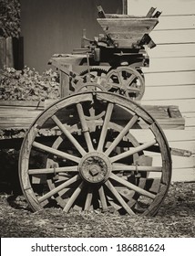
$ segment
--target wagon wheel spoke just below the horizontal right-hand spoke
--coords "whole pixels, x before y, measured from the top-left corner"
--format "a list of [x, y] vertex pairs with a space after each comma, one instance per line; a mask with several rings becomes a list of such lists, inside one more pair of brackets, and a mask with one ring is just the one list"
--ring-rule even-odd
[[113, 173], [110, 174], [110, 178], [116, 180], [119, 184], [124, 185], [125, 187], [128, 187], [128, 188], [138, 192], [142, 196], [149, 197], [151, 199], [154, 199], [156, 197], [154, 194], [152, 194], [138, 186], [135, 186], [132, 183], [129, 183], [127, 180], [125, 180], [121, 177], [118, 177], [118, 176], [114, 175]]

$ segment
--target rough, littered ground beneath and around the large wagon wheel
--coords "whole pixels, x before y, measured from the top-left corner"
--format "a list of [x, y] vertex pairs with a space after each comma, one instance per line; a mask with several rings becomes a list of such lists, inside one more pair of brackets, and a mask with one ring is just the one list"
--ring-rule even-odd
[[23, 196], [0, 196], [2, 238], [194, 238], [195, 183], [175, 183], [156, 217], [71, 212], [47, 208], [33, 213]]

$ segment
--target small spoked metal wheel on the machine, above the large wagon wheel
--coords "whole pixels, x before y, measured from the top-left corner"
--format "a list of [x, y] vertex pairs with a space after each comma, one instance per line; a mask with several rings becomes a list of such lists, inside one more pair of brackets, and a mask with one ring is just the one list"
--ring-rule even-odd
[[109, 90], [122, 94], [129, 99], [141, 100], [145, 91], [143, 75], [131, 67], [111, 69], [106, 77]]

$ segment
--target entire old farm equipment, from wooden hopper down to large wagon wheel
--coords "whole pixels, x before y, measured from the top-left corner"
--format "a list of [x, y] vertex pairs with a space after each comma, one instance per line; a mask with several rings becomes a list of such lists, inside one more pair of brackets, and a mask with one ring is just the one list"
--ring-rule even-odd
[[[171, 179], [170, 148], [159, 123], [182, 129], [184, 122], [177, 107], [135, 101], [144, 93], [141, 67], [149, 65], [144, 45], [154, 46], [149, 31], [159, 12], [153, 13], [151, 8], [145, 17], [106, 15], [98, 7], [106, 34], [94, 40], [84, 35], [82, 48], [51, 59], [60, 72], [62, 99], [44, 111], [36, 108], [39, 115], [19, 157], [21, 187], [33, 210], [55, 202], [65, 212], [157, 213]], [[32, 112], [28, 108], [26, 117]], [[41, 161], [35, 166], [37, 154]]]

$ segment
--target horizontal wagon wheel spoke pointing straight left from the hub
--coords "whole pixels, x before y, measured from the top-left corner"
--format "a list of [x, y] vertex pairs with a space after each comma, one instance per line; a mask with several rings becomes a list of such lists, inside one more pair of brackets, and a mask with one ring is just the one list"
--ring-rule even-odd
[[78, 171], [78, 166], [65, 166], [65, 167], [56, 167], [56, 168], [42, 168], [42, 169], [29, 169], [29, 175], [48, 175], [54, 173], [72, 173]]

